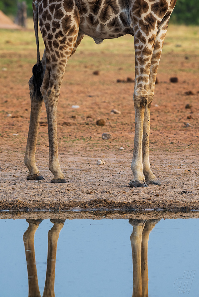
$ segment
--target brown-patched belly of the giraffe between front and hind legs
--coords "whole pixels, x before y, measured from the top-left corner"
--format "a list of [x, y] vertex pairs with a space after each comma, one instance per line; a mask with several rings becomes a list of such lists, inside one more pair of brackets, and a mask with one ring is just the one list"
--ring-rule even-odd
[[96, 43], [127, 33], [133, 34], [133, 29], [130, 28], [129, 7], [125, 0], [101, 0], [101, 5], [94, 1], [92, 6], [91, 1], [77, 1], [80, 11], [79, 32], [92, 37]]

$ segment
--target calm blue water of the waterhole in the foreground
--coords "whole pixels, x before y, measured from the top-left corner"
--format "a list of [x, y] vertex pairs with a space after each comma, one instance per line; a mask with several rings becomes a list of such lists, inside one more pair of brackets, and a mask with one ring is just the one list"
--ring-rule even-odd
[[[30, 221], [30, 227], [36, 230], [37, 225], [33, 223]], [[148, 220], [145, 223], [130, 220], [130, 223], [125, 219], [74, 219], [66, 220], [64, 225], [63, 222], [59, 223], [59, 220], [55, 221], [54, 229], [50, 233], [52, 235], [51, 245], [49, 245], [51, 254], [48, 259], [47, 273], [51, 278], [49, 282], [47, 281], [43, 296], [53, 296], [54, 291], [56, 297], [130, 297], [132, 292], [136, 297], [142, 296], [138, 295], [141, 287], [143, 296], [147, 296], [144, 295], [147, 285], [148, 295], [153, 297], [172, 297], [179, 296], [179, 294], [198, 296], [199, 219], [162, 219], [158, 222]], [[142, 226], [143, 224], [145, 227]], [[47, 269], [47, 234], [53, 223], [46, 219], [38, 225], [34, 246], [34, 230], [31, 231], [32, 233], [29, 232], [29, 227], [29, 234], [24, 237], [28, 246], [28, 248], [26, 246], [25, 254], [23, 234], [28, 225], [23, 219], [0, 220], [1, 297], [28, 296], [26, 254], [30, 270], [29, 296], [36, 297], [34, 290], [37, 288], [37, 279], [37, 289], [41, 296], [43, 294]], [[53, 264], [55, 261], [53, 259], [55, 256], [52, 247], [55, 246], [54, 252], [56, 252], [58, 229], [61, 231], [57, 243], [54, 280]], [[147, 252], [147, 234], [149, 233], [148, 259], [146, 260], [146, 256], [141, 258], [142, 265], [144, 265], [144, 260], [148, 263], [148, 276], [142, 274], [141, 277], [140, 262], [138, 260], [136, 263], [136, 259], [137, 255], [139, 258], [140, 251], [142, 254], [144, 251]], [[145, 242], [142, 249], [140, 248], [141, 241], [142, 244]], [[34, 259], [32, 260], [33, 247], [35, 248], [36, 266]], [[37, 277], [34, 273], [35, 268], [37, 268]], [[145, 273], [146, 271], [145, 265]]]

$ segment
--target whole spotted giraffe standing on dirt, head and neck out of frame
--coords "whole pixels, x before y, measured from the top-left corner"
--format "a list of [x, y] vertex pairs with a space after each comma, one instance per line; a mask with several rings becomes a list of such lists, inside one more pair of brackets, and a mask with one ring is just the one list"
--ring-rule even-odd
[[[35, 163], [39, 118], [44, 101], [49, 138], [51, 183], [66, 183], [60, 168], [57, 147], [57, 102], [69, 57], [84, 35], [100, 44], [104, 39], [125, 34], [134, 36], [135, 137], [130, 187], [161, 185], [149, 162], [150, 108], [157, 68], [170, 15], [177, 0], [33, 0], [37, 63], [29, 80], [31, 114], [24, 163], [28, 180], [41, 179]], [[39, 53], [38, 23], [45, 50]]]

